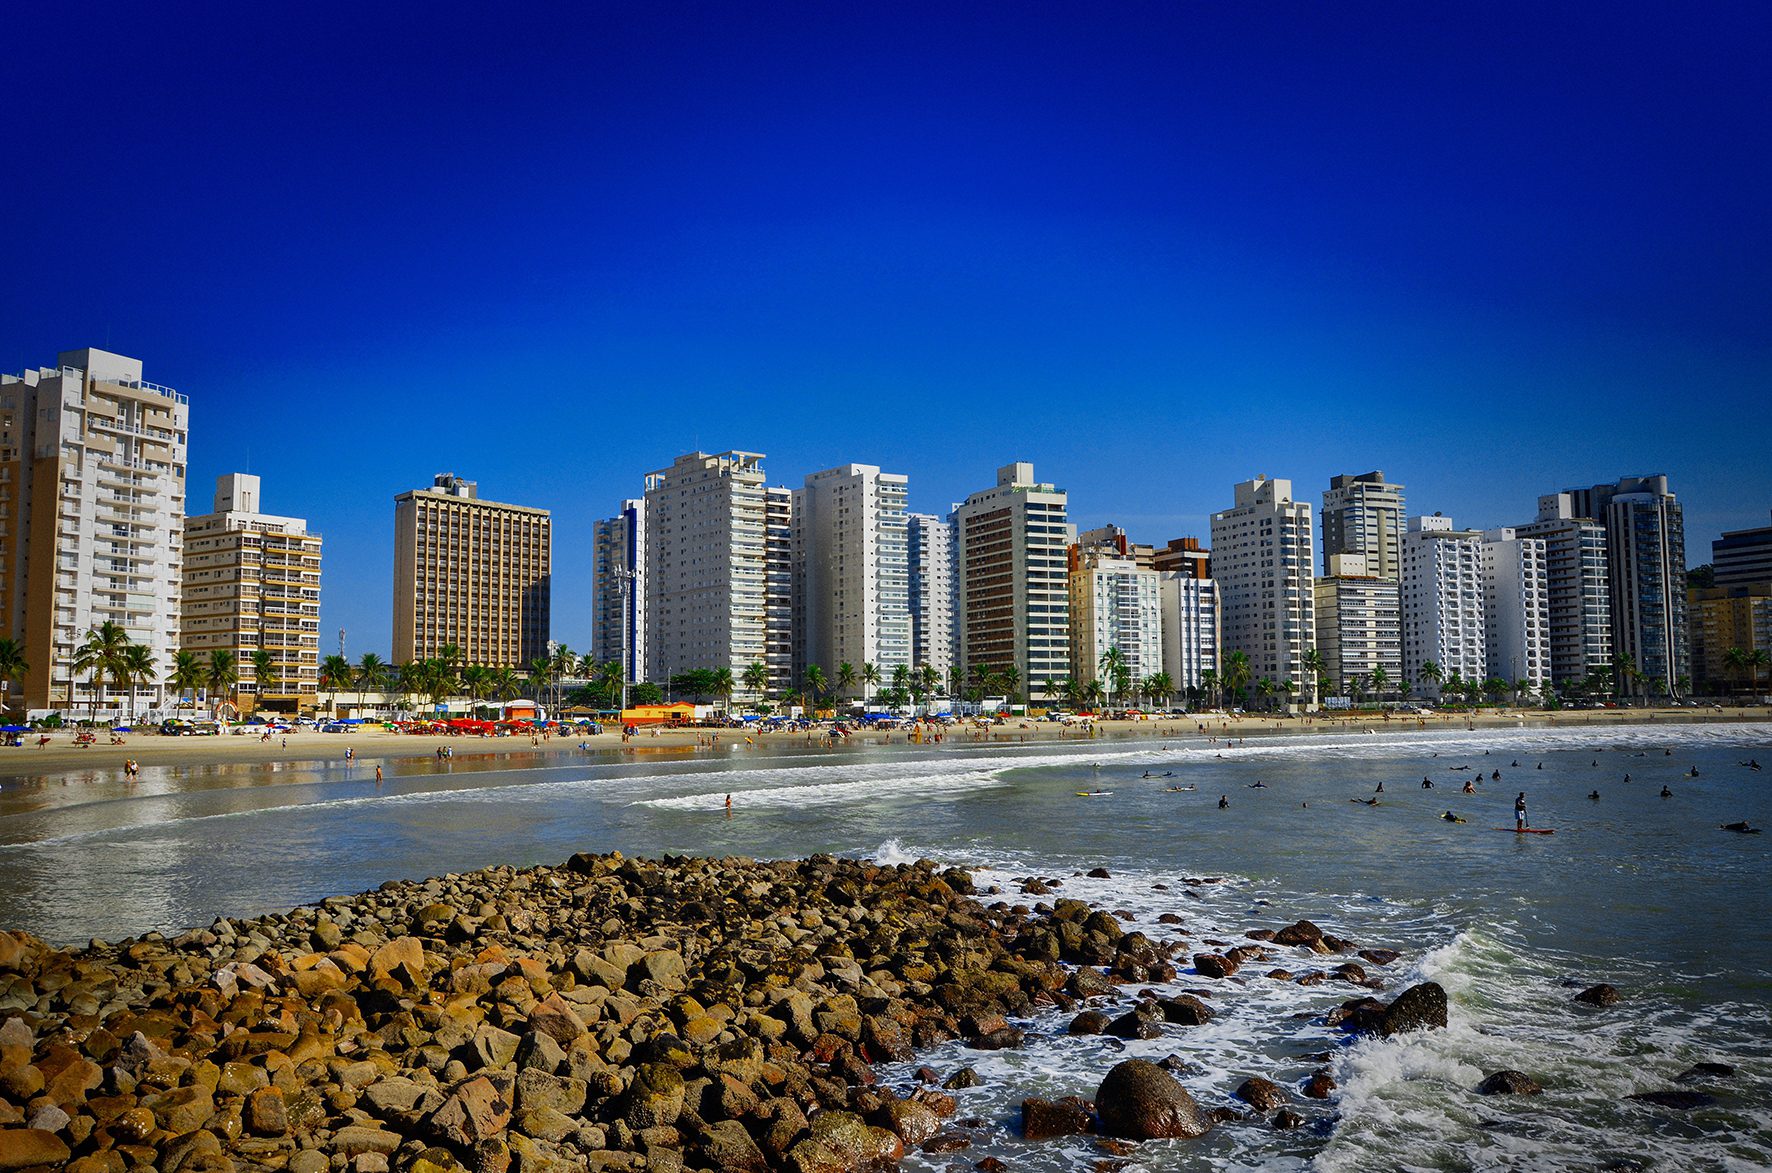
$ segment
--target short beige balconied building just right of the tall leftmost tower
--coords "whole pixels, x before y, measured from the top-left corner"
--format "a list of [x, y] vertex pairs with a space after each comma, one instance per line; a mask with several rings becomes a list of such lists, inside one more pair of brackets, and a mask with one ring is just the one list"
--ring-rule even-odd
[[[321, 535], [259, 512], [259, 478], [216, 477], [214, 512], [184, 521], [184, 650], [234, 652], [241, 712], [319, 700]], [[255, 656], [269, 652], [269, 679]]]

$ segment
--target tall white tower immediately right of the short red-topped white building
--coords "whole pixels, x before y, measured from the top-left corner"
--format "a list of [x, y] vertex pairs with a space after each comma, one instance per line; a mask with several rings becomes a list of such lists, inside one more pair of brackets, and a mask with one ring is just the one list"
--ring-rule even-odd
[[1308, 698], [1315, 679], [1304, 654], [1317, 645], [1311, 507], [1292, 500], [1290, 480], [1256, 477], [1237, 484], [1232, 509], [1212, 514], [1212, 579], [1224, 608], [1224, 657], [1249, 657], [1251, 687], [1265, 679], [1294, 698]]

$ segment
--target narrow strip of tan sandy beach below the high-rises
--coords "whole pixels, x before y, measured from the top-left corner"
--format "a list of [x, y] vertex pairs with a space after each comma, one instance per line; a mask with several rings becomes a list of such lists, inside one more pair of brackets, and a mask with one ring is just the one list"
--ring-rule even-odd
[[[1763, 721], [1765, 707], [1731, 709], [1591, 709], [1591, 711], [1485, 711], [1481, 714], [1434, 714], [1402, 716], [1393, 714], [1384, 719], [1375, 714], [1334, 716], [1317, 714], [1308, 718], [1274, 718], [1265, 714], [1194, 714], [1177, 719], [1155, 721], [1100, 721], [1095, 725], [1097, 739], [1125, 737], [1271, 737], [1302, 732], [1325, 730], [1446, 730], [1446, 728], [1497, 728], [1497, 726], [1547, 726], [1547, 728], [1584, 728], [1595, 725], [1696, 725], [1696, 723], [1733, 723]], [[1090, 732], [1077, 725], [1060, 725], [1053, 721], [1019, 721], [978, 728], [975, 725], [955, 725], [943, 730], [943, 744], [976, 742], [1035, 742], [1035, 741], [1088, 741]], [[122, 744], [113, 744], [101, 734], [97, 744], [76, 746], [71, 730], [53, 734], [46, 746], [37, 744], [35, 735], [28, 735], [19, 748], [0, 748], [0, 780], [35, 778], [44, 774], [67, 774], [82, 769], [120, 771], [126, 760], [140, 765], [232, 765], [255, 762], [333, 762], [342, 760], [346, 751], [353, 751], [358, 762], [392, 764], [400, 758], [432, 760], [439, 748], [448, 748], [457, 762], [471, 758], [510, 758], [519, 764], [525, 758], [533, 765], [558, 764], [585, 753], [698, 753], [732, 751], [734, 748], [757, 746], [808, 746], [822, 744], [822, 735], [813, 734], [748, 734], [746, 730], [723, 728], [657, 728], [641, 730], [627, 742], [618, 732], [602, 734], [563, 734], [544, 739], [530, 737], [443, 737], [425, 734], [393, 734], [381, 728], [354, 734], [317, 734], [301, 730], [260, 741], [257, 734], [222, 734], [218, 737], [161, 737], [158, 734], [129, 734]], [[905, 730], [863, 730], [852, 734], [849, 744], [913, 744]], [[925, 739], [925, 744], [930, 744]], [[581, 748], [585, 746], [585, 748]]]

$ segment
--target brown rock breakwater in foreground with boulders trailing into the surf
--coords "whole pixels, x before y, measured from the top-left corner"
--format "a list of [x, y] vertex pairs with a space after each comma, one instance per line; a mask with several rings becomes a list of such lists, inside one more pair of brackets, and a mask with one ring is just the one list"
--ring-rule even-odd
[[[574, 856], [71, 952], [0, 932], [0, 1171], [847, 1173], [992, 1127], [955, 1118], [948, 1091], [971, 1068], [893, 1090], [877, 1063], [952, 1038], [1015, 1047], [1010, 1019], [1042, 1010], [1077, 1010], [1074, 1033], [1152, 1038], [1209, 1021], [1212, 990], [1138, 990], [1113, 1017], [1084, 1003], [1170, 982], [1177, 960], [1210, 982], [1281, 948], [1356, 948], [1310, 921], [1200, 944], [1187, 957], [1079, 900], [985, 907], [969, 874], [927, 861], [826, 856]], [[1382, 987], [1359, 960], [1267, 976]], [[1444, 1026], [1446, 999], [1416, 987], [1336, 1015]], [[1274, 1127], [1304, 1122], [1265, 1079], [1237, 1097]], [[1240, 1115], [1132, 1060], [1093, 1102], [1028, 1099], [1021, 1123], [1127, 1152]]]

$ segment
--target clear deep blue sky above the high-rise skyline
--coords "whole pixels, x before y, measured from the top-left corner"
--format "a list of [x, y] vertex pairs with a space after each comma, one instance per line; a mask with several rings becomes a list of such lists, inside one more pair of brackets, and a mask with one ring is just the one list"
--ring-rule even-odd
[[[872, 11], [865, 11], [872, 9]], [[388, 652], [393, 496], [590, 532], [679, 452], [1074, 519], [1382, 468], [1526, 521], [1666, 471], [1772, 509], [1772, 5], [0, 5], [0, 369], [191, 400], [190, 501], [326, 535]]]

